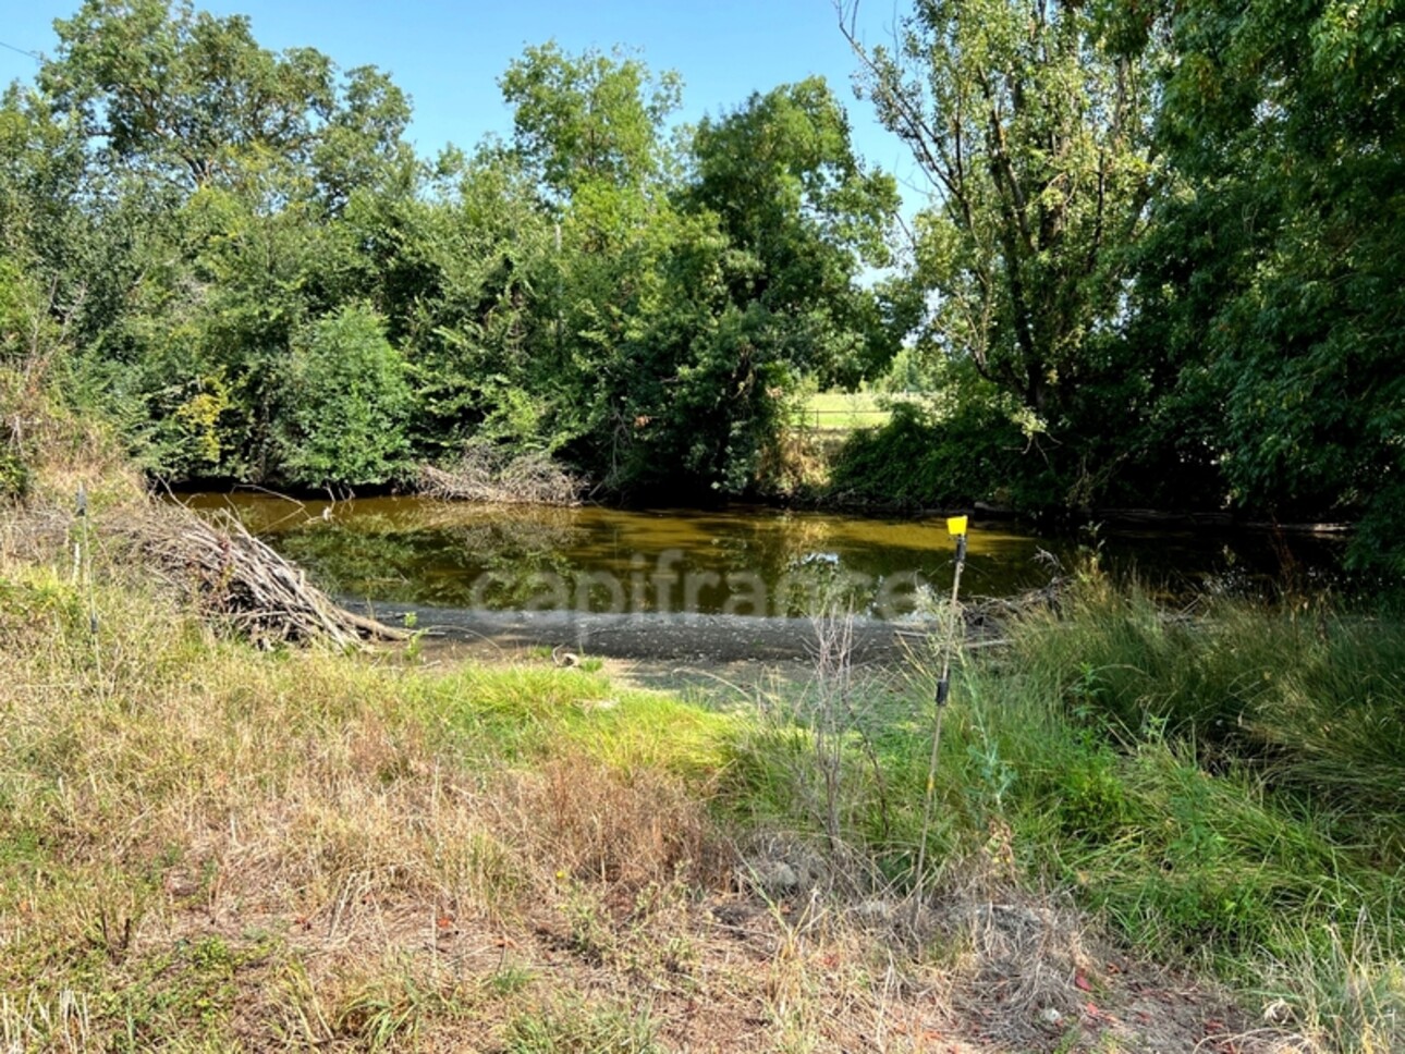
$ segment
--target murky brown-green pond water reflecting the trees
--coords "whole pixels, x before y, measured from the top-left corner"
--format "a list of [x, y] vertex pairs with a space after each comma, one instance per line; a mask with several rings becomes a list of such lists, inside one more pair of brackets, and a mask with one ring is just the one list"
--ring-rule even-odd
[[[798, 616], [843, 596], [875, 618], [901, 618], [950, 587], [941, 519], [731, 507], [722, 512], [479, 506], [424, 497], [294, 502], [266, 493], [194, 495], [233, 509], [251, 531], [341, 596], [492, 610]], [[1335, 566], [1335, 545], [1194, 531], [1109, 534], [1106, 565], [1176, 592], [1252, 590], [1286, 559]], [[962, 593], [1009, 596], [1041, 586], [1051, 557], [1078, 559], [1076, 540], [1007, 524], [972, 524]]]

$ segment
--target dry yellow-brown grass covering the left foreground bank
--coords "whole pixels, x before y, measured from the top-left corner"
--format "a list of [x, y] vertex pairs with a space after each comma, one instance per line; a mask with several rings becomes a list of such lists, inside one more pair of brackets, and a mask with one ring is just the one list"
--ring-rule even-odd
[[400, 946], [516, 926], [580, 883], [725, 870], [701, 781], [725, 717], [579, 670], [257, 653], [135, 580], [96, 587], [93, 638], [55, 571], [0, 585], [14, 1048], [226, 1048], [250, 1020], [391, 1048], [518, 1020], [530, 982], [481, 989]]

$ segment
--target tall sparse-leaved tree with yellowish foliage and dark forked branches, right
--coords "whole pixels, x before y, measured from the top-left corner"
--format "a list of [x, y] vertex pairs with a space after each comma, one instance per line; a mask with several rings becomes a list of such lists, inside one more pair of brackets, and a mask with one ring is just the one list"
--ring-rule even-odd
[[916, 0], [894, 48], [840, 27], [861, 90], [932, 181], [919, 278], [940, 353], [1058, 433], [1120, 322], [1156, 171], [1154, 70], [1097, 4]]

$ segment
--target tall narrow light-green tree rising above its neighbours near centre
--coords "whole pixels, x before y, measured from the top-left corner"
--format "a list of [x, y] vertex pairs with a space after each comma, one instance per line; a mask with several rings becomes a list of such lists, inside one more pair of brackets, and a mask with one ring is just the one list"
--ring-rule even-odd
[[677, 74], [638, 58], [555, 44], [528, 48], [502, 77], [513, 155], [554, 223], [551, 268], [537, 285], [537, 389], [554, 445], [620, 486], [629, 443], [621, 398], [648, 384], [631, 353], [658, 305], [659, 260], [674, 229], [666, 135]]

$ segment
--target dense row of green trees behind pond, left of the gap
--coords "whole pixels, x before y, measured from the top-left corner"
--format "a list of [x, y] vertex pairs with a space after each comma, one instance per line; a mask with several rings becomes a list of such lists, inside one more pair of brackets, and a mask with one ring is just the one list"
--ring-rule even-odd
[[[676, 74], [534, 46], [510, 141], [427, 159], [385, 74], [240, 15], [87, 0], [55, 28], [0, 104], [0, 360], [62, 333], [69, 395], [166, 479], [393, 485], [476, 441], [715, 499], [798, 384], [901, 336], [858, 281], [895, 183], [821, 79], [673, 135]], [[132, 39], [163, 41], [156, 80]]]

